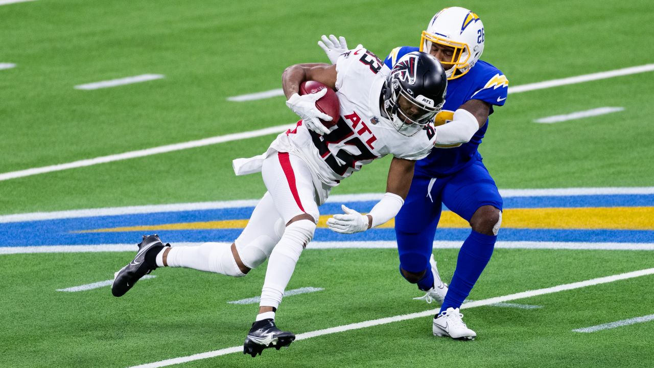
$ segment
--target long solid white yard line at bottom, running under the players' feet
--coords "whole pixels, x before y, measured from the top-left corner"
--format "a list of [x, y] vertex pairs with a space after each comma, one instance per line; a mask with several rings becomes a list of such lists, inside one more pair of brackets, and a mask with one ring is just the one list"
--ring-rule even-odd
[[[593, 285], [606, 284], [608, 282], [614, 282], [614, 281], [618, 281], [618, 280], [626, 280], [628, 278], [636, 278], [636, 277], [646, 276], [646, 275], [651, 275], [651, 274], [654, 274], [654, 268], [647, 268], [645, 270], [627, 272], [627, 273], [624, 273], [624, 274], [617, 274], [617, 275], [613, 275], [613, 276], [594, 278], [594, 279], [591, 279], [591, 280], [574, 282], [572, 284], [563, 284], [563, 285], [557, 285], [557, 286], [553, 286], [553, 287], [545, 287], [543, 289], [523, 291], [522, 293], [515, 293], [515, 294], [504, 295], [502, 297], [494, 297], [494, 298], [489, 298], [489, 299], [483, 299], [481, 301], [473, 301], [473, 302], [470, 302], [470, 303], [462, 304], [461, 308], [462, 309], [463, 308], [475, 308], [477, 306], [485, 306], [485, 305], [496, 304], [496, 303], [504, 303], [504, 302], [513, 301], [513, 300], [516, 300], [516, 299], [525, 299], [525, 298], [528, 298], [528, 297], [535, 297], [535, 296], [538, 296], [538, 295], [558, 293], [559, 291], [579, 289], [581, 287], [588, 287], [588, 286], [593, 286]], [[436, 310], [430, 309], [430, 310], [425, 310], [424, 312], [417, 312], [417, 313], [411, 313], [411, 314], [402, 314], [400, 316], [379, 318], [378, 320], [370, 320], [370, 321], [364, 321], [364, 322], [358, 322], [358, 323], [351, 323], [349, 325], [342, 325], [342, 326], [337, 326], [337, 327], [331, 327], [331, 328], [328, 328], [328, 329], [320, 329], [318, 331], [300, 333], [299, 335], [296, 335], [295, 340], [299, 341], [299, 340], [311, 339], [312, 337], [318, 337], [318, 336], [322, 336], [322, 335], [330, 335], [332, 333], [339, 333], [339, 332], [351, 331], [351, 330], [354, 330], [354, 329], [362, 329], [362, 328], [366, 328], [366, 327], [384, 325], [384, 324], [392, 323], [392, 322], [413, 320], [415, 318], [433, 316], [434, 314], [436, 314]], [[162, 361], [156, 361], [154, 363], [146, 363], [146, 364], [141, 364], [141, 365], [135, 365], [135, 366], [129, 367], [129, 368], [159, 368], [159, 367], [166, 367], [168, 365], [186, 363], [188, 361], [194, 361], [194, 360], [199, 360], [199, 359], [214, 358], [216, 356], [223, 356], [223, 355], [231, 354], [231, 353], [235, 353], [235, 352], [243, 352], [243, 346], [232, 346], [231, 348], [224, 348], [224, 349], [220, 349], [220, 350], [214, 350], [213, 352], [204, 352], [204, 353], [194, 354], [192, 356], [183, 356], [183, 357], [180, 357], [180, 358], [165, 359], [165, 360], [162, 360]]]

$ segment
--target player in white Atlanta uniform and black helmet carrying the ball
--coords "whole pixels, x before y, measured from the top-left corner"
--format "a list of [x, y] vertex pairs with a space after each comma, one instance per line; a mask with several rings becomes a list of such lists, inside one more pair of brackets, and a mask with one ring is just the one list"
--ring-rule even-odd
[[[279, 134], [266, 153], [233, 161], [237, 175], [261, 172], [267, 192], [254, 208], [241, 235], [228, 246], [205, 243], [169, 247], [156, 235], [144, 236], [131, 263], [116, 272], [112, 293], [124, 295], [139, 278], [157, 267], [187, 267], [228, 276], [245, 276], [267, 258], [259, 314], [252, 323], [243, 353], [252, 357], [265, 348], [288, 346], [293, 333], [275, 325], [275, 312], [302, 250], [318, 222], [318, 206], [330, 189], [377, 158], [393, 155], [387, 193], [368, 215], [342, 206], [344, 214], [330, 217], [330, 229], [360, 232], [392, 219], [409, 192], [416, 160], [436, 142], [432, 120], [441, 110], [447, 77], [434, 56], [409, 52], [389, 69], [359, 45], [339, 56], [335, 65], [298, 64], [283, 73], [286, 105], [301, 120]], [[332, 120], [315, 103], [326, 88], [298, 94], [303, 81], [318, 81], [336, 90], [340, 117]]]

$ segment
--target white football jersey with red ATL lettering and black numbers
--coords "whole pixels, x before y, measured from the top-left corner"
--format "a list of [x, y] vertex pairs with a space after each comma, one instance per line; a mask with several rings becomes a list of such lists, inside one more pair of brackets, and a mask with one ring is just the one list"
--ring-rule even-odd
[[279, 134], [264, 155], [278, 151], [300, 156], [323, 185], [334, 187], [377, 158], [390, 154], [420, 160], [429, 154], [436, 141], [431, 123], [407, 137], [382, 117], [381, 89], [390, 73], [382, 60], [359, 45], [338, 58], [336, 71], [341, 119], [330, 134], [320, 136], [300, 121], [293, 130]]

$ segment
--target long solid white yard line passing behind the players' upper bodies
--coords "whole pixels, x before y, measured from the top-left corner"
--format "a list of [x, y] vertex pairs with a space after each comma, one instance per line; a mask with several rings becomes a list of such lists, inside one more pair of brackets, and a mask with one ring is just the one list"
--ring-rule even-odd
[[[604, 78], [611, 78], [611, 77], [618, 77], [620, 75], [628, 75], [628, 74], [634, 74], [634, 73], [644, 73], [645, 71], [653, 71], [654, 70], [654, 64], [647, 64], [647, 65], [641, 65], [637, 67], [627, 67], [625, 69], [617, 69], [613, 71], [604, 71], [602, 73], [593, 73], [593, 74], [587, 74], [587, 75], [579, 75], [578, 77], [570, 77], [570, 78], [564, 78], [564, 79], [555, 79], [553, 81], [545, 81], [545, 82], [539, 82], [539, 83], [532, 83], [532, 84], [525, 84], [523, 86], [515, 86], [515, 87], [509, 87], [509, 93], [518, 93], [518, 92], [525, 92], [527, 90], [538, 90], [542, 88], [550, 88], [554, 86], [563, 86], [565, 84], [574, 84], [574, 83], [581, 83], [581, 82], [587, 82], [587, 81], [595, 81], [596, 79], [604, 79]], [[76, 87], [77, 88], [77, 87]], [[271, 91], [267, 91], [264, 93], [269, 93]], [[237, 98], [238, 96], [235, 96], [234, 98]], [[247, 139], [247, 138], [252, 138], [252, 137], [258, 137], [258, 136], [264, 136], [267, 134], [273, 134], [273, 133], [281, 133], [284, 130], [288, 129], [288, 127], [294, 126], [294, 125], [284, 125], [284, 126], [276, 126], [273, 128], [267, 128], [262, 129], [262, 130], [254, 130], [252, 132], [244, 132], [244, 133], [239, 133], [242, 134], [243, 136], [235, 139], [230, 139], [230, 140], [236, 140], [236, 139]], [[267, 131], [268, 133], [266, 134], [258, 134], [257, 132], [262, 132], [262, 131]], [[238, 134], [228, 134], [228, 136], [237, 136]], [[60, 171], [60, 170], [67, 170], [67, 169], [72, 169], [72, 168], [80, 168], [83, 166], [91, 166], [95, 164], [103, 164], [105, 162], [112, 162], [112, 161], [118, 161], [118, 160], [127, 160], [128, 158], [135, 158], [135, 157], [143, 157], [143, 156], [149, 156], [149, 155], [157, 155], [159, 153], [166, 153], [166, 152], [171, 152], [171, 151], [178, 151], [180, 149], [189, 149], [189, 148], [194, 148], [194, 147], [200, 147], [202, 145], [210, 145], [210, 144], [216, 144], [216, 143], [222, 143], [226, 140], [222, 140], [222, 138], [227, 137], [227, 136], [217, 136], [213, 138], [207, 138], [207, 139], [201, 139], [199, 141], [190, 141], [186, 143], [177, 143], [173, 145], [165, 145], [162, 147], [154, 147], [151, 149], [144, 149], [144, 150], [139, 150], [139, 151], [130, 151], [126, 153], [119, 153], [116, 155], [110, 155], [110, 156], [102, 156], [102, 157], [97, 157], [97, 158], [90, 158], [86, 160], [79, 160], [75, 162], [69, 162], [67, 164], [58, 164], [58, 165], [52, 165], [52, 166], [44, 166], [41, 168], [31, 168], [31, 169], [26, 169], [26, 170], [19, 170], [16, 172], [6, 172], [3, 174], [0, 174], [0, 181], [3, 180], [9, 180], [9, 179], [15, 179], [17, 177], [25, 177], [25, 176], [30, 176], [30, 175], [37, 175], [37, 174], [44, 174], [48, 172], [55, 172], [55, 171]], [[211, 143], [203, 143], [200, 145], [196, 145], [195, 143], [197, 142], [211, 142]], [[227, 140], [228, 141], [228, 140]], [[170, 149], [173, 147], [173, 149]]]

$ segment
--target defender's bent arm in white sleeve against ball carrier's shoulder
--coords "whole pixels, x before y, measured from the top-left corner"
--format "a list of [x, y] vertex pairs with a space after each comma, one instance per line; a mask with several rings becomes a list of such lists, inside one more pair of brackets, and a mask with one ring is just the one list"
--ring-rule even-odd
[[489, 119], [490, 103], [481, 100], [468, 100], [454, 113], [454, 120], [436, 126], [434, 145], [456, 145], [470, 141], [477, 130]]

